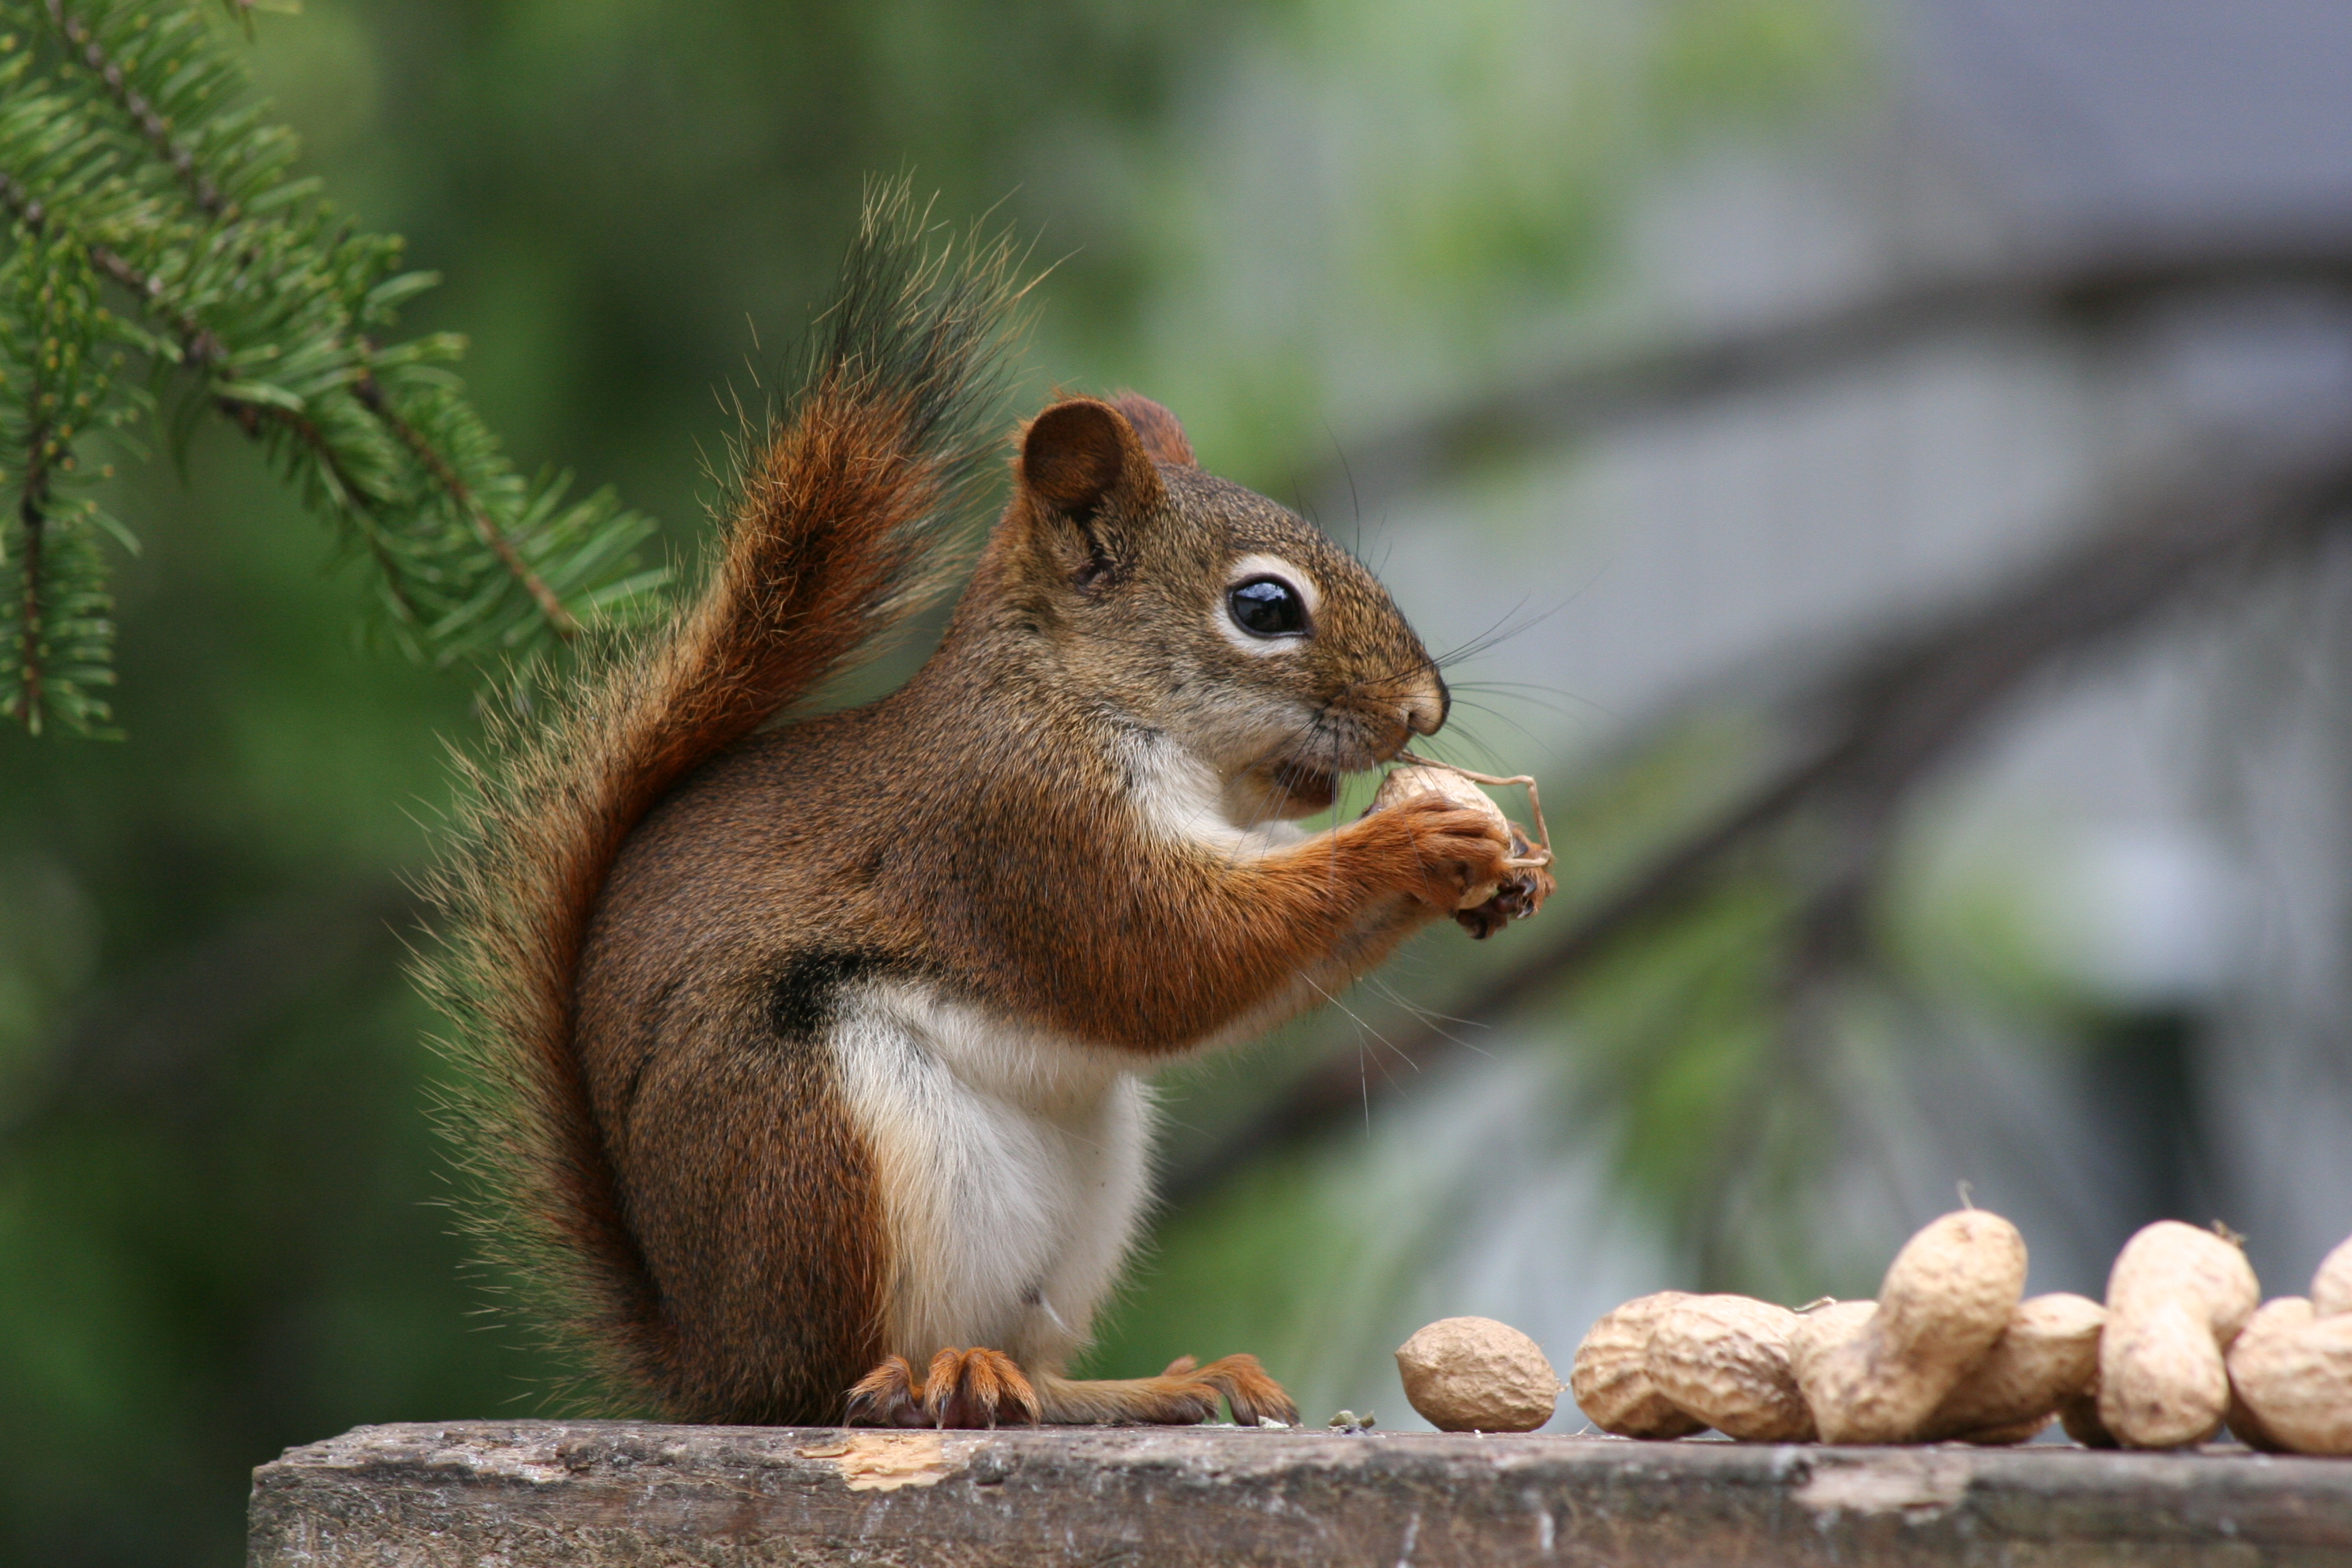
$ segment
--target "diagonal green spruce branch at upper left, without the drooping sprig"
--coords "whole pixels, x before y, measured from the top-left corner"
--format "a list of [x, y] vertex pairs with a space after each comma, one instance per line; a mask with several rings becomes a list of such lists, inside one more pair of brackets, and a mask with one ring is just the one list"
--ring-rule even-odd
[[94, 348], [176, 386], [181, 423], [212, 411], [259, 442], [372, 562], [414, 658], [532, 656], [588, 616], [635, 614], [661, 581], [633, 555], [652, 524], [609, 491], [567, 498], [567, 475], [517, 475], [449, 374], [463, 343], [390, 334], [435, 277], [292, 176], [296, 141], [249, 101], [223, 33], [247, 12], [0, 0], [0, 28], [19, 28], [0, 35], [14, 249], [71, 252], [120, 296], [92, 317]]

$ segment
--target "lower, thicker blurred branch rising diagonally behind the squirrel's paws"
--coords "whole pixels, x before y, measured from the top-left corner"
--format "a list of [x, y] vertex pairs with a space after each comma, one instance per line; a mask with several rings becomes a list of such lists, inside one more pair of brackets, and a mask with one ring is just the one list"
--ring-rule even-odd
[[[1557, 938], [1449, 1004], [1449, 1023], [1494, 1025], [1583, 976], [1630, 931], [1675, 914], [1783, 835], [1816, 832], [1797, 863], [1795, 924], [1806, 947], [1858, 924], [1900, 806], [2058, 661], [2204, 590], [2239, 585], [2267, 562], [2307, 552], [2352, 508], [2352, 430], [2270, 454], [2241, 451], [2145, 496], [2079, 543], [1919, 632], [1879, 642], [1778, 703], [1785, 757], [1710, 820], [1670, 842]], [[1670, 729], [1670, 726], [1668, 726]], [[1536, 938], [1541, 926], [1529, 926]], [[1461, 1048], [1423, 1025], [1388, 1041], [1414, 1065]], [[1352, 1060], [1329, 1060], [1176, 1173], [1171, 1197], [1202, 1192], [1235, 1164], [1357, 1114], [1371, 1093]]]

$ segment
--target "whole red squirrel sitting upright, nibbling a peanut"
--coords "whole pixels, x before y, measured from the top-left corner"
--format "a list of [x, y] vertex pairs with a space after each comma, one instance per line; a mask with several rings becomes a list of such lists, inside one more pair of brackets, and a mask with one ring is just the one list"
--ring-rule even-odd
[[1065, 1375], [1148, 1204], [1145, 1074], [1526, 886], [1435, 795], [1296, 825], [1446, 684], [1355, 557], [1131, 393], [1021, 428], [917, 675], [790, 712], [953, 569], [1016, 301], [1002, 247], [870, 202], [699, 597], [461, 762], [423, 978], [473, 1227], [670, 1420], [1296, 1422], [1247, 1354]]

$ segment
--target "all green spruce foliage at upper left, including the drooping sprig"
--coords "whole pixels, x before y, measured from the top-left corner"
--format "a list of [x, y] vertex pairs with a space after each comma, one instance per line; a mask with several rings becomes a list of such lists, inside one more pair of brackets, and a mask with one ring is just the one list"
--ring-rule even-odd
[[449, 371], [463, 339], [393, 339], [435, 277], [292, 174], [296, 139], [233, 54], [245, 12], [0, 5], [0, 461], [16, 515], [0, 710], [35, 731], [108, 722], [96, 531], [132, 536], [68, 480], [85, 444], [136, 414], [113, 390], [125, 369], [172, 397], [174, 442], [219, 414], [263, 447], [374, 564], [381, 628], [412, 658], [529, 656], [659, 578], [635, 562], [652, 524], [612, 491], [574, 498], [569, 475], [515, 473]]

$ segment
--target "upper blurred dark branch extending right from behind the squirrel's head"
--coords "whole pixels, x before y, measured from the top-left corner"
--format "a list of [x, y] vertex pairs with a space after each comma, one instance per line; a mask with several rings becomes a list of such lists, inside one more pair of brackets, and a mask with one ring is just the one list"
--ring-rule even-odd
[[2018, 324], [2098, 324], [2178, 294], [2270, 287], [2352, 292], [2352, 242], [2343, 235], [2117, 240], [2100, 252], [1922, 277], [1696, 343], [1505, 381], [1350, 440], [1348, 456], [1310, 470], [1301, 494], [1324, 512], [1369, 512], [1486, 463], [1717, 397], [1835, 376], [1912, 343]]

